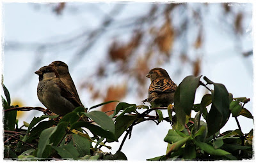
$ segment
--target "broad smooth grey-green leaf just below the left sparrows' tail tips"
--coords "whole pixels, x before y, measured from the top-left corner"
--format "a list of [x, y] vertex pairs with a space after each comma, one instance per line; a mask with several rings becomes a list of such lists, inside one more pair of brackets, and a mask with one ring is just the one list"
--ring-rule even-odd
[[115, 124], [111, 118], [102, 111], [91, 111], [84, 113], [87, 117], [91, 118], [96, 124], [106, 131], [110, 131], [115, 134]]

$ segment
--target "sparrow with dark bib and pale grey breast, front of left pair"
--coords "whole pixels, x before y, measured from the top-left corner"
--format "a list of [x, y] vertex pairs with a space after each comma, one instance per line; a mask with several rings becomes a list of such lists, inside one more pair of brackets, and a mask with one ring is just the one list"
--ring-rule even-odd
[[39, 76], [37, 96], [47, 109], [63, 116], [81, 106], [80, 101], [60, 80], [54, 67], [44, 66], [35, 73]]

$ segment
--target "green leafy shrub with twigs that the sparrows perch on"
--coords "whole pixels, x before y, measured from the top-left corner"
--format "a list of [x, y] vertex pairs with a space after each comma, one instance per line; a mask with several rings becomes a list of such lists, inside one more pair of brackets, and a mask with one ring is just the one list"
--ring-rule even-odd
[[[40, 107], [10, 106], [10, 94], [6, 87], [2, 96], [4, 108], [4, 158], [17, 160], [127, 160], [122, 153], [125, 139], [131, 137], [132, 128], [148, 120], [159, 124], [166, 121], [172, 125], [165, 129], [164, 141], [168, 145], [166, 155], [147, 160], [241, 160], [251, 159], [253, 129], [244, 134], [237, 117], [253, 119], [244, 104], [250, 99], [234, 98], [221, 83], [207, 77], [187, 76], [175, 92], [174, 106], [150, 108], [146, 105], [108, 101], [91, 108], [78, 107], [62, 118]], [[213, 85], [213, 90], [207, 85]], [[196, 89], [205, 87], [210, 91], [194, 104]], [[118, 103], [112, 115], [94, 108], [108, 103]], [[34, 117], [28, 124], [18, 127], [17, 111], [38, 110], [45, 115]], [[138, 111], [142, 110], [142, 111]], [[195, 117], [191, 117], [191, 111]], [[156, 111], [156, 116], [148, 115]], [[163, 117], [162, 111], [168, 112]], [[139, 113], [140, 112], [140, 113]], [[220, 133], [228, 119], [236, 119], [238, 129]], [[85, 122], [83, 117], [88, 117]], [[204, 120], [202, 120], [204, 118]], [[136, 126], [135, 126], [136, 127]], [[103, 152], [102, 146], [111, 148], [111, 142], [120, 141], [115, 154]], [[133, 133], [136, 134], [136, 133]], [[129, 136], [129, 137], [128, 137]]]

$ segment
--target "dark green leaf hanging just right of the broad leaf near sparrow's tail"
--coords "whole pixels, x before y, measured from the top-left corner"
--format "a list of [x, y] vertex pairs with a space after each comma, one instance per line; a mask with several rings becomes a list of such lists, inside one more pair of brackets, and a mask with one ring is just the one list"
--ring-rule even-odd
[[122, 118], [116, 120], [115, 123], [115, 135], [119, 138], [126, 129], [136, 120], [138, 115], [123, 115]]

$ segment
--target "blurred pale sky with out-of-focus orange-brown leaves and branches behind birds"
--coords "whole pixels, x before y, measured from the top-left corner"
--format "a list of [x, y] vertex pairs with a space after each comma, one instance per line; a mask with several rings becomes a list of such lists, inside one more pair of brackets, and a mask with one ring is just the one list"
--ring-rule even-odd
[[[251, 3], [3, 3], [2, 26], [4, 84], [13, 104], [44, 108], [34, 72], [62, 60], [86, 107], [142, 104], [145, 76], [162, 67], [177, 85], [191, 74], [223, 83], [234, 97], [251, 98], [245, 108], [253, 112]], [[199, 87], [195, 103], [207, 92]], [[113, 109], [115, 103], [97, 108]], [[19, 113], [19, 126], [40, 115]], [[252, 120], [238, 120], [244, 133], [252, 129]], [[164, 155], [168, 129], [166, 122], [136, 125], [122, 152], [129, 160]], [[230, 129], [237, 129], [232, 117], [221, 132]], [[120, 142], [109, 145], [102, 150], [115, 153]]]

